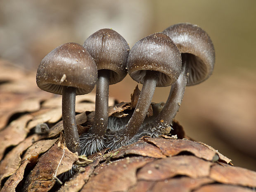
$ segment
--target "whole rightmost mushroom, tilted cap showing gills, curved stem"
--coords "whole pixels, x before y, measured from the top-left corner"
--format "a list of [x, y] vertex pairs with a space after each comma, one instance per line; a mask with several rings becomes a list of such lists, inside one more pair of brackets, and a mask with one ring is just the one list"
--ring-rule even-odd
[[173, 40], [181, 52], [182, 72], [171, 86], [168, 100], [153, 125], [159, 129], [160, 134], [165, 134], [164, 128], [172, 123], [183, 99], [185, 86], [196, 85], [209, 78], [215, 62], [213, 43], [199, 26], [175, 24], [166, 28], [163, 33]]

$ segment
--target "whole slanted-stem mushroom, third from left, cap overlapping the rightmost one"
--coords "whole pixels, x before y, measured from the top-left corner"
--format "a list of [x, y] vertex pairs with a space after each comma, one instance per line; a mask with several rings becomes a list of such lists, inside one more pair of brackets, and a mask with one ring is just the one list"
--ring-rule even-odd
[[137, 41], [127, 61], [128, 73], [142, 83], [142, 90], [132, 117], [117, 135], [109, 138], [111, 149], [127, 145], [142, 125], [149, 109], [154, 90], [175, 82], [181, 70], [181, 55], [164, 33], [154, 33]]

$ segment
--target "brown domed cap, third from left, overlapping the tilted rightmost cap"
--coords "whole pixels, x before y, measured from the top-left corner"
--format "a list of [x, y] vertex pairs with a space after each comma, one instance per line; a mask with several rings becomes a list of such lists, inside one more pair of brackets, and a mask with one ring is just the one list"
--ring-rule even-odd
[[175, 82], [180, 75], [180, 51], [166, 34], [154, 33], [133, 45], [127, 68], [131, 78], [142, 84], [146, 70], [159, 71], [156, 86], [165, 87]]

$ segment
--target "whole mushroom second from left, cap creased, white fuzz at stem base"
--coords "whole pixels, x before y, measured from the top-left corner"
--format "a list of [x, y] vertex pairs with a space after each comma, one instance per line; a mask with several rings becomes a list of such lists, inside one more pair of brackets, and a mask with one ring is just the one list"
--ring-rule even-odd
[[94, 59], [98, 70], [94, 123], [89, 132], [81, 137], [82, 153], [92, 154], [105, 147], [109, 85], [122, 81], [126, 76], [130, 47], [119, 33], [109, 28], [93, 33], [85, 40], [83, 47]]

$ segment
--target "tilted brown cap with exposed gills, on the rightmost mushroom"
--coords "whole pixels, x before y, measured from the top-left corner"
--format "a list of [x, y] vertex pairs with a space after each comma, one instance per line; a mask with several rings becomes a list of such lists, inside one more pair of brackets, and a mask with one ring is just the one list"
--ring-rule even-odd
[[187, 85], [205, 81], [213, 72], [215, 51], [209, 35], [197, 25], [184, 23], [166, 28], [168, 35], [179, 48], [187, 64]]

